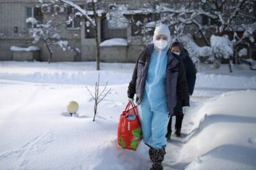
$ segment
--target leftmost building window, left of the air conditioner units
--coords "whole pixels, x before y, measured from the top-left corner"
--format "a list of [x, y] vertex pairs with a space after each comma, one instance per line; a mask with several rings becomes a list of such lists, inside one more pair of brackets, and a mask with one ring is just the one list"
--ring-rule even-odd
[[[28, 7], [26, 8], [26, 19], [33, 17], [38, 22], [43, 22], [43, 14], [40, 7]], [[36, 27], [36, 24], [32, 24], [31, 22], [27, 22], [27, 29], [31, 29]]]

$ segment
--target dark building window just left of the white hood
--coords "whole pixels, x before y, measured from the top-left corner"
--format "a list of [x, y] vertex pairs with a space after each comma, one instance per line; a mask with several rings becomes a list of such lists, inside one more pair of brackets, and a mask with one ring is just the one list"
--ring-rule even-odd
[[132, 36], [142, 36], [142, 26], [144, 17], [142, 15], [132, 15]]

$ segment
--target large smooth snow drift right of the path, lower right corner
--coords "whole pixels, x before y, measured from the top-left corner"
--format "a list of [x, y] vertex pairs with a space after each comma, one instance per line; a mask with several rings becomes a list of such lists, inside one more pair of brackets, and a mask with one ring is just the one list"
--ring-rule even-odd
[[191, 122], [180, 160], [187, 169], [255, 169], [256, 91], [234, 91], [205, 102]]

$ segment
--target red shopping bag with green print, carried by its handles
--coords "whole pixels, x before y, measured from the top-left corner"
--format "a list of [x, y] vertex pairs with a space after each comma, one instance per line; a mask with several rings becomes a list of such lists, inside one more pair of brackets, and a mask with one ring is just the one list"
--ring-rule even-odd
[[[132, 106], [131, 109], [129, 107]], [[136, 150], [142, 139], [140, 118], [137, 112], [137, 106], [129, 102], [125, 111], [120, 115], [118, 123], [118, 147], [127, 150]]]

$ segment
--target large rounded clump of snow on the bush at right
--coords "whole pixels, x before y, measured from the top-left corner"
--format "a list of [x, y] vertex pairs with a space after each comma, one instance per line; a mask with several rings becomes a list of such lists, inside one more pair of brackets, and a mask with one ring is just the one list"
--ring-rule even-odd
[[234, 50], [233, 50], [233, 44], [228, 39], [228, 36], [211, 36], [211, 47], [212, 50], [217, 58], [230, 58], [230, 56], [233, 56]]

